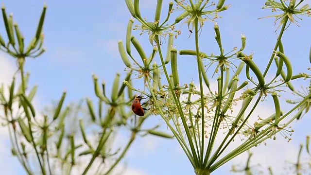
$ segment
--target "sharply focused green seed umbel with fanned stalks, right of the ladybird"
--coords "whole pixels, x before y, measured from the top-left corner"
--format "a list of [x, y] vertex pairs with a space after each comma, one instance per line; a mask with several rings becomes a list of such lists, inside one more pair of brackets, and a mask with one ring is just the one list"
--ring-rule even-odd
[[[267, 0], [263, 8], [272, 8], [273, 13], [277, 13], [272, 17], [276, 17], [276, 23], [279, 21], [276, 31], [279, 27], [280, 30], [273, 53], [267, 61], [267, 67], [261, 71], [256, 65], [256, 58], [253, 58], [253, 54], [243, 53], [246, 46], [244, 35], [241, 38], [240, 49], [235, 47], [228, 53], [224, 52], [220, 27], [216, 20], [220, 18], [221, 12], [230, 7], [230, 5], [225, 5], [225, 0], [219, 0], [217, 3], [209, 0], [173, 0], [168, 4], [169, 11], [164, 12], [166, 18], [163, 22], [160, 21], [161, 13], [163, 13], [162, 2], [163, 0], [157, 0], [155, 19], [146, 19], [140, 14], [139, 0], [125, 0], [132, 18], [127, 26], [125, 48], [120, 40], [119, 51], [126, 70], [136, 76], [133, 79], [143, 78], [145, 88], [137, 89], [127, 80], [124, 80], [124, 84], [149, 98], [146, 106], [151, 108], [152, 114], [159, 115], [167, 124], [188, 157], [195, 174], [209, 175], [232, 158], [265, 140], [276, 139], [276, 135], [281, 135], [290, 141], [290, 136], [294, 131], [290, 129], [290, 124], [298, 120], [303, 111], [308, 112], [311, 97], [310, 91], [302, 94], [294, 89], [291, 82], [298, 78], [309, 79], [310, 76], [306, 73], [293, 75], [291, 60], [284, 54], [285, 49], [281, 40], [290, 24], [297, 24], [296, 18], [300, 15], [310, 15], [309, 5], [298, 8], [303, 0], [298, 3], [295, 0], [278, 2]], [[173, 17], [180, 11], [182, 12], [179, 16]], [[281, 14], [278, 14], [279, 12]], [[154, 47], [149, 57], [138, 39], [132, 35], [134, 19], [138, 21], [134, 30], [141, 30], [140, 35], [147, 33]], [[178, 52], [173, 48], [174, 36], [178, 37], [182, 34], [180, 30], [175, 30], [175, 26], [182, 23], [186, 23], [190, 35], [194, 35], [195, 50]], [[207, 52], [210, 51], [204, 52], [199, 45], [202, 30], [205, 29], [205, 25], [212, 23], [214, 23], [219, 55], [209, 55]], [[163, 38], [168, 41], [167, 45], [162, 42]], [[131, 45], [138, 52], [139, 59], [133, 56]], [[162, 52], [163, 47], [167, 48], [167, 53]], [[178, 53], [189, 57], [195, 56], [197, 70], [193, 71], [198, 73], [199, 85], [180, 81], [178, 72], [181, 69], [177, 69]], [[156, 56], [159, 60], [156, 60]], [[160, 62], [160, 65], [157, 65], [156, 61]], [[276, 63], [277, 69], [272, 67], [273, 62]], [[239, 66], [235, 66], [234, 63], [239, 63]], [[168, 67], [171, 67], [172, 72], [168, 71]], [[247, 79], [241, 81], [239, 75], [242, 74], [244, 67]], [[187, 69], [187, 71], [191, 70]], [[275, 72], [272, 79], [267, 78], [268, 71]], [[231, 75], [232, 72], [234, 72], [233, 75]], [[161, 74], [164, 74], [164, 77]], [[210, 87], [207, 75], [213, 75], [214, 82], [217, 82], [216, 89]], [[207, 87], [208, 93], [203, 91], [204, 87]], [[280, 108], [279, 96], [286, 93], [284, 89], [294, 92], [301, 98], [298, 101], [288, 101], [295, 104], [288, 111], [282, 111]], [[239, 90], [243, 91], [242, 95], [237, 93]], [[254, 110], [265, 100], [273, 101], [274, 114], [259, 118], [253, 125], [249, 124], [249, 119], [257, 116]], [[242, 103], [242, 106], [239, 109], [235, 106], [235, 110], [239, 112], [233, 114], [233, 105], [236, 103]], [[299, 112], [292, 116], [291, 114], [296, 109]], [[226, 128], [227, 131], [224, 138], [218, 142], [216, 139], [223, 132], [222, 128]], [[242, 141], [238, 146], [232, 144], [237, 136]], [[229, 146], [234, 148], [228, 150]]]

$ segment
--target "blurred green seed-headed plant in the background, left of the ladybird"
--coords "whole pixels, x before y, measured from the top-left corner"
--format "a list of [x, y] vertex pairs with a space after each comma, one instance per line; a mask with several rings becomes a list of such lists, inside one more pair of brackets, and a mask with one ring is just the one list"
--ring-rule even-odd
[[[172, 138], [171, 135], [155, 130], [158, 125], [149, 129], [142, 128], [150, 113], [138, 119], [133, 115], [130, 105], [134, 95], [132, 89], [125, 84], [119, 86], [119, 73], [113, 82], [111, 98], [106, 96], [105, 83], [100, 88], [98, 78], [93, 75], [94, 91], [98, 97], [96, 107], [89, 98], [86, 98], [86, 104], [83, 100], [77, 105], [73, 103], [64, 107], [65, 91], [55, 106], [47, 108], [42, 115], [37, 113], [33, 103], [37, 86], [31, 89], [28, 86], [30, 74], [25, 74], [24, 65], [28, 58], [36, 58], [45, 52], [42, 48], [42, 28], [46, 9], [44, 6], [35, 37], [25, 48], [24, 36], [17, 23], [14, 23], [13, 15], [8, 18], [5, 7], [2, 6], [8, 40], [5, 42], [0, 35], [0, 50], [17, 60], [18, 70], [12, 84], [8, 86], [9, 95], [6, 94], [4, 84], [0, 87], [3, 109], [0, 117], [2, 124], [8, 127], [12, 155], [17, 157], [26, 173], [107, 175], [115, 170], [137, 136], [151, 134]], [[21, 80], [18, 88], [16, 74], [20, 75]], [[131, 72], [125, 80], [129, 81], [130, 77]], [[115, 146], [113, 141], [122, 127], [129, 131], [130, 137], [124, 146]]]

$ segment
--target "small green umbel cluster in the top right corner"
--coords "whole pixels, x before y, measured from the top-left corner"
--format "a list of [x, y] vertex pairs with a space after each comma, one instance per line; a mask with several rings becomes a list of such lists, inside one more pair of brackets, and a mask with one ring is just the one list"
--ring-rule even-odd
[[295, 4], [296, 0], [288, 0], [289, 4], [285, 3], [285, 1], [286, 0], [280, 0], [280, 2], [276, 2], [275, 0], [267, 0], [265, 6], [262, 7], [263, 9], [271, 8], [272, 12], [280, 12], [280, 11], [283, 12], [281, 15], [272, 15], [268, 17], [263, 17], [263, 18], [275, 17], [276, 18], [275, 24], [277, 20], [280, 19], [280, 23], [277, 26], [276, 31], [284, 22], [287, 22], [287, 19], [289, 19], [291, 22], [299, 26], [297, 24], [298, 21], [294, 17], [302, 20], [302, 18], [299, 18], [298, 15], [304, 15], [308, 17], [310, 17], [311, 15], [310, 12], [311, 8], [309, 8], [309, 4], [304, 5], [300, 9], [297, 8], [304, 0], [300, 0], [297, 4]]

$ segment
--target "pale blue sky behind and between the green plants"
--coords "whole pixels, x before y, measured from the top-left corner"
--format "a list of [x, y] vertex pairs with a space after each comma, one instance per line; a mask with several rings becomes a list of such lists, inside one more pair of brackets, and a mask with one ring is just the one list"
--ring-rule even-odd
[[[153, 21], [156, 0], [140, 1], [142, 17]], [[310, 0], [305, 1], [311, 2]], [[35, 34], [45, 1], [2, 0], [2, 2], [8, 13], [13, 12], [14, 19], [25, 36], [25, 42], [29, 42]], [[46, 2], [48, 9], [44, 24], [44, 46], [47, 48], [47, 52], [35, 60], [29, 59], [25, 68], [31, 71], [30, 85], [39, 87], [36, 97], [39, 107], [50, 105], [52, 100], [59, 99], [64, 90], [67, 90], [67, 103], [84, 97], [95, 100], [92, 73], [106, 82], [106, 92], [108, 93], [115, 74], [120, 72], [121, 78], [125, 76], [123, 71], [125, 66], [119, 56], [117, 45], [119, 39], [125, 43], [126, 26], [131, 17], [125, 2], [123, 0], [47, 0]], [[163, 9], [167, 9], [168, 2], [170, 0], [163, 0]], [[241, 46], [240, 34], [245, 34], [244, 53], [253, 52], [254, 62], [262, 71], [270, 59], [277, 37], [276, 26], [274, 26], [275, 18], [258, 20], [258, 18], [273, 15], [270, 9], [261, 8], [264, 2], [264, 0], [226, 0], [225, 4], [231, 4], [231, 7], [220, 13], [222, 18], [217, 19], [225, 51], [230, 51], [235, 46], [239, 48]], [[166, 13], [167, 10], [162, 12], [162, 18]], [[303, 20], [298, 19], [300, 27], [292, 24], [282, 38], [285, 54], [292, 61], [294, 74], [300, 71], [306, 72], [310, 67], [311, 18], [303, 18]], [[188, 39], [187, 24], [176, 25], [176, 29], [179, 28], [182, 29], [183, 35], [174, 41], [176, 49], [194, 50], [194, 35]], [[5, 34], [2, 22], [0, 22], [0, 33], [2, 36]], [[138, 31], [132, 32], [132, 35], [138, 38], [149, 55], [152, 46], [149, 43], [148, 35], [139, 36]], [[166, 50], [166, 47], [164, 48]], [[204, 25], [200, 48], [206, 53], [219, 52], [211, 22], [206, 22]], [[195, 59], [193, 58], [192, 61], [191, 58], [182, 56], [179, 58], [178, 68], [181, 82], [190, 83], [191, 79], [198, 82]], [[15, 65], [13, 59], [9, 59], [9, 62]], [[160, 63], [159, 60], [156, 62]], [[274, 75], [274, 71], [269, 73], [271, 76]], [[308, 82], [295, 81], [293, 84], [299, 88], [302, 84], [308, 85]], [[283, 101], [285, 101], [285, 97], [286, 95], [282, 98]], [[264, 104], [269, 105], [269, 102]], [[288, 105], [284, 104], [284, 106]], [[286, 111], [286, 108], [284, 110]], [[161, 123], [159, 117], [150, 119], [147, 126], [152, 126], [155, 123]], [[291, 149], [293, 152], [288, 153], [290, 156], [293, 156], [291, 154], [294, 153], [293, 157], [295, 157], [298, 144], [304, 142], [305, 136], [311, 133], [310, 125], [310, 115], [306, 115], [303, 122], [294, 122], [295, 132], [292, 142], [288, 143], [290, 146], [283, 146], [286, 141], [278, 141], [277, 144], [282, 145], [284, 151], [286, 151], [285, 148]], [[166, 127], [163, 126], [163, 128]], [[269, 142], [269, 145], [276, 146], [274, 142]], [[6, 146], [9, 145], [6, 144]], [[139, 151], [142, 148], [146, 150], [145, 154]], [[130, 168], [143, 172], [142, 175], [193, 174], [193, 169], [186, 156], [180, 151], [176, 151], [177, 148], [178, 144], [174, 140], [154, 137], [141, 138], [134, 143], [126, 161]], [[269, 150], [261, 149], [263, 152]], [[244, 162], [242, 160], [243, 158], [240, 158], [237, 161]], [[18, 169], [17, 174], [22, 175], [17, 160], [12, 160], [12, 162]], [[230, 166], [231, 163], [227, 163], [224, 169], [215, 172], [215, 174], [228, 173]]]

